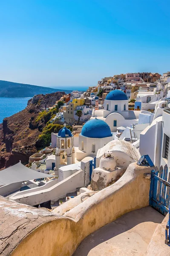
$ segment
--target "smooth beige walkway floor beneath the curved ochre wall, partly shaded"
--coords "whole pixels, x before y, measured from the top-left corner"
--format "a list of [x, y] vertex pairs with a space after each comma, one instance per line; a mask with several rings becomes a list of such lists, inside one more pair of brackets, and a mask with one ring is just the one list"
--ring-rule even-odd
[[143, 256], [163, 219], [151, 207], [129, 212], [87, 236], [73, 256]]

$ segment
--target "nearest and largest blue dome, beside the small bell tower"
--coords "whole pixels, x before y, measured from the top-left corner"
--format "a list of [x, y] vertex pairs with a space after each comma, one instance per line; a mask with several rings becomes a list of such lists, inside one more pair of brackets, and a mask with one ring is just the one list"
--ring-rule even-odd
[[101, 119], [92, 119], [86, 122], [81, 130], [81, 135], [89, 138], [111, 137], [109, 125]]

